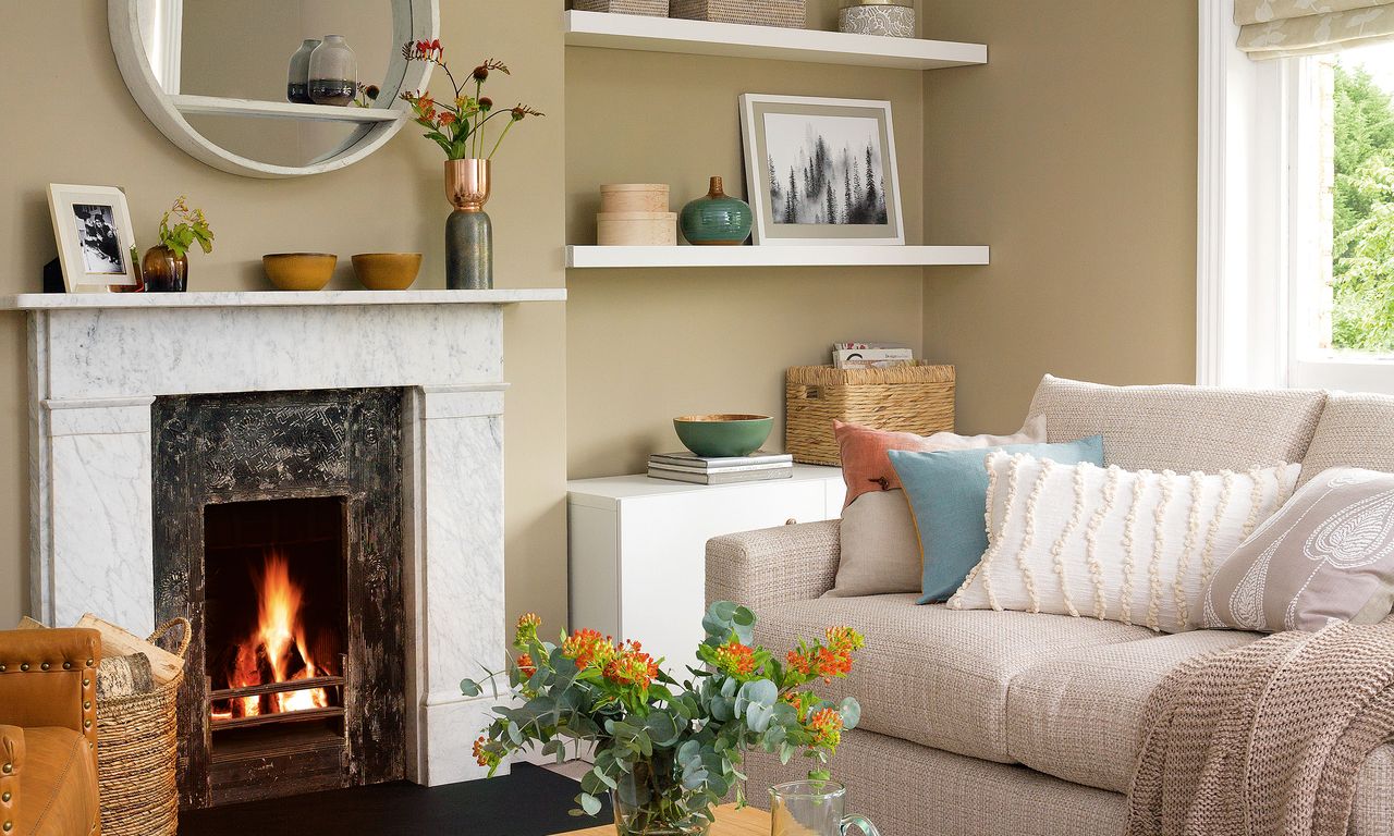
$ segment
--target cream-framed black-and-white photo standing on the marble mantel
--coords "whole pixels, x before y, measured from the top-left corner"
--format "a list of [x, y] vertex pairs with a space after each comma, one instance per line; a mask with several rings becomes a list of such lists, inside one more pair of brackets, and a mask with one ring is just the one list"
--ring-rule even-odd
[[49, 184], [49, 215], [68, 293], [135, 287], [131, 212], [125, 192], [109, 185]]

